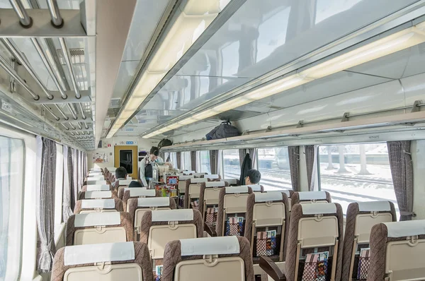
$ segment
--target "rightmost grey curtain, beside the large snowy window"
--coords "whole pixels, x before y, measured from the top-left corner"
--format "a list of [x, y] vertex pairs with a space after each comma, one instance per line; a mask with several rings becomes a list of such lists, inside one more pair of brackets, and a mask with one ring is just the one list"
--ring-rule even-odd
[[400, 210], [400, 220], [412, 220], [413, 165], [410, 140], [388, 141], [387, 147], [392, 183]]

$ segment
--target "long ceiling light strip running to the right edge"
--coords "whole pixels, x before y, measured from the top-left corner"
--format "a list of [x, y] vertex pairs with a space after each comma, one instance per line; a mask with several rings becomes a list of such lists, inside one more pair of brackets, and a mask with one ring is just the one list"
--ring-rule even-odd
[[171, 131], [181, 126], [192, 124], [196, 121], [200, 121], [222, 112], [226, 112], [229, 109], [234, 109], [256, 100], [261, 100], [264, 97], [276, 95], [285, 90], [289, 90], [299, 85], [309, 83], [313, 80], [329, 76], [331, 74], [358, 66], [360, 64], [364, 64], [368, 61], [373, 61], [374, 59], [387, 56], [388, 54], [401, 51], [402, 49], [413, 47], [423, 42], [425, 42], [425, 22], [401, 30], [399, 32], [395, 32], [392, 35], [382, 37], [375, 42], [365, 44], [361, 47], [353, 49], [350, 52], [346, 52], [320, 64], [311, 66], [310, 68], [302, 70], [299, 73], [286, 76], [282, 79], [276, 80], [275, 82], [255, 88], [254, 90], [246, 92], [244, 95], [236, 97], [232, 100], [228, 100], [227, 102], [224, 102], [217, 107], [205, 110], [198, 114], [194, 114], [193, 116], [181, 121], [177, 121], [174, 124], [164, 126], [164, 128], [159, 128], [156, 131], [147, 133], [142, 137], [152, 138], [153, 136], [157, 136], [166, 131]]

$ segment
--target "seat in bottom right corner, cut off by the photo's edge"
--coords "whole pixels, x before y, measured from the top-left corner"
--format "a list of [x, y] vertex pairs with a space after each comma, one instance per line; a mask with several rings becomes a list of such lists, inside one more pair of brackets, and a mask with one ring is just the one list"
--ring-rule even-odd
[[368, 281], [425, 280], [425, 220], [385, 222], [370, 233]]

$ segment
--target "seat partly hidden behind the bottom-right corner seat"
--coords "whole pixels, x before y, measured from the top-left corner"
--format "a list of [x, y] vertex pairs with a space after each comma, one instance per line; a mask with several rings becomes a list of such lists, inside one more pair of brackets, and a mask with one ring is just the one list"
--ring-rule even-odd
[[[367, 269], [358, 272], [361, 249], [369, 248], [370, 231], [380, 222], [395, 222], [394, 204], [390, 201], [354, 202], [348, 205], [342, 258], [342, 280], [357, 280], [367, 275]], [[357, 254], [356, 254], [357, 252]], [[357, 274], [359, 273], [359, 274]]]

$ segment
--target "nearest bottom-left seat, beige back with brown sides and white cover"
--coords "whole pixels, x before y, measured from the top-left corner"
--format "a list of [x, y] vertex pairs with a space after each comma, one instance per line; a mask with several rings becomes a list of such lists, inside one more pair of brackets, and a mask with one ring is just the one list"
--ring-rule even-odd
[[152, 281], [149, 251], [140, 242], [66, 246], [57, 250], [52, 281]]

